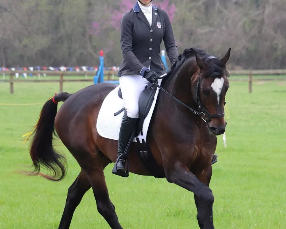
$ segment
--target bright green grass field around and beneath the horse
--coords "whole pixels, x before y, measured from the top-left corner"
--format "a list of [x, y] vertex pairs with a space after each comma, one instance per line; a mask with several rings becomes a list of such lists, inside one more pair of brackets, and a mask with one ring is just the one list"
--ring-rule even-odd
[[[75, 92], [90, 83], [65, 82]], [[231, 82], [227, 93], [227, 148], [218, 137], [218, 162], [213, 165], [210, 188], [215, 196], [215, 228], [286, 228], [286, 85], [284, 82]], [[44, 103], [58, 92], [58, 83], [0, 83], [0, 103]], [[57, 228], [68, 187], [80, 171], [67, 156], [63, 181], [51, 182], [11, 172], [31, 165], [29, 142], [21, 135], [37, 121], [41, 105], [0, 105], [0, 228]], [[199, 228], [193, 194], [155, 179], [131, 174], [105, 176], [112, 202], [123, 228]], [[71, 228], [109, 228], [97, 212], [92, 190], [76, 209]]]

